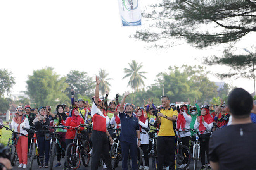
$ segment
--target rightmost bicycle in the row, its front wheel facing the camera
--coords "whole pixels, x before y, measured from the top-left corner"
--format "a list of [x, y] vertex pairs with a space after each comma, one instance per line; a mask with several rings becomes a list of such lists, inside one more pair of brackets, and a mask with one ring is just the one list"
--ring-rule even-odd
[[194, 167], [193, 167], [193, 170], [196, 170], [197, 169], [197, 161], [200, 157], [200, 141], [198, 140], [199, 139], [199, 133], [201, 132], [213, 132], [213, 131], [208, 131], [208, 130], [204, 130], [204, 131], [197, 131], [195, 129], [186, 129], [186, 128], [183, 128], [184, 130], [191, 130], [191, 131], [194, 131], [196, 132], [196, 136], [195, 136], [195, 141], [194, 141], [194, 146], [193, 146], [193, 159], [194, 159]]

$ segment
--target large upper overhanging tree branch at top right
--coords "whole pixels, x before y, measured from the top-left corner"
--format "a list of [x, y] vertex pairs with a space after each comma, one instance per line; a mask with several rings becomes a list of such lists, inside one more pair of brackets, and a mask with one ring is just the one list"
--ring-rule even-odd
[[158, 48], [172, 46], [176, 39], [197, 48], [217, 46], [256, 31], [256, 0], [163, 0], [151, 7], [142, 16], [152, 24], [134, 37], [167, 41], [154, 45]]

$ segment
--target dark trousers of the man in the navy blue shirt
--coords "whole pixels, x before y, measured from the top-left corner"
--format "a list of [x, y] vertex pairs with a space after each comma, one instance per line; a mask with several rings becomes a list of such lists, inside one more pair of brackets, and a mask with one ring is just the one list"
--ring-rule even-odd
[[121, 152], [122, 152], [122, 169], [128, 170], [128, 155], [130, 153], [131, 160], [132, 160], [132, 170], [138, 169], [137, 163], [137, 143], [129, 143], [126, 141], [121, 142]]

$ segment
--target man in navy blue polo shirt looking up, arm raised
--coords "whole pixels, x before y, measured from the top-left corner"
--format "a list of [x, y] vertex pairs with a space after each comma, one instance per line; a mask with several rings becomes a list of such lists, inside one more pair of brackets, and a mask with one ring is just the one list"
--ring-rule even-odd
[[[119, 140], [121, 143], [122, 151], [122, 169], [128, 170], [127, 160], [130, 151], [130, 156], [132, 160], [132, 170], [138, 169], [137, 164], [137, 147], [140, 147], [140, 127], [138, 124], [138, 118], [132, 115], [134, 106], [127, 103], [124, 108], [125, 98], [130, 94], [130, 92], [125, 92], [123, 99], [120, 104], [120, 121], [121, 121], [121, 133]], [[125, 112], [124, 112], [125, 111]], [[137, 143], [137, 137], [138, 143]]]

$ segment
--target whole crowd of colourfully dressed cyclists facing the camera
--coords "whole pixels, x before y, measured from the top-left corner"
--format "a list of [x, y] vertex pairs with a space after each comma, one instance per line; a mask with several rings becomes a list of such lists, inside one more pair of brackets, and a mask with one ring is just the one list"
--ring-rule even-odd
[[[55, 127], [72, 127], [58, 128], [56, 131], [59, 134], [59, 142], [61, 147], [66, 149], [66, 146], [73, 142], [76, 130], [81, 134], [83, 139], [90, 142], [90, 155], [92, 155], [92, 170], [97, 170], [100, 157], [104, 160], [104, 168], [111, 170], [111, 157], [109, 151], [113, 139], [116, 137], [116, 130], [121, 128], [119, 140], [121, 141], [122, 165], [123, 170], [127, 169], [127, 156], [130, 152], [132, 157], [137, 155], [137, 147], [141, 147], [144, 155], [144, 161], [140, 167], [136, 167], [133, 162], [134, 170], [144, 169], [149, 170], [149, 137], [153, 138], [153, 134], [157, 130], [157, 170], [167, 169], [175, 170], [182, 169], [186, 164], [175, 167], [176, 153], [176, 137], [177, 130], [183, 131], [180, 133], [182, 144], [189, 147], [191, 152], [193, 148], [191, 141], [195, 140], [196, 133], [194, 131], [184, 132], [185, 129], [194, 129], [197, 131], [209, 130], [216, 131], [225, 128], [228, 125], [230, 114], [225, 110], [227, 105], [221, 100], [220, 105], [201, 105], [197, 104], [196, 99], [194, 105], [191, 105], [188, 99], [187, 105], [176, 105], [171, 103], [168, 96], [161, 96], [162, 105], [154, 105], [153, 100], [144, 100], [143, 106], [136, 106], [130, 103], [125, 103], [125, 98], [130, 93], [126, 92], [119, 103], [119, 95], [116, 94], [116, 100], [108, 103], [109, 91], [106, 91], [105, 98], [99, 96], [100, 80], [96, 77], [95, 96], [92, 98], [92, 106], [89, 102], [83, 99], [74, 99], [75, 91], [71, 89], [71, 107], [66, 104], [60, 104], [56, 107], [57, 114], [52, 112], [51, 106], [40, 106], [31, 108], [30, 105], [25, 105], [16, 108], [16, 115], [11, 122], [7, 122], [10, 129], [27, 135], [21, 136], [18, 134], [19, 140], [16, 144], [17, 155], [19, 158], [18, 168], [27, 168], [29, 146], [31, 138], [35, 135], [31, 131], [24, 128], [34, 128], [38, 132], [36, 134], [39, 148], [39, 168], [49, 167], [49, 151], [50, 137], [52, 129], [43, 125]], [[215, 108], [214, 108], [215, 107]], [[25, 112], [24, 112], [25, 111]], [[83, 125], [84, 126], [81, 126]], [[92, 128], [85, 128], [86, 126]], [[152, 129], [145, 130], [145, 129]], [[176, 130], [177, 129], [177, 130]], [[42, 131], [49, 131], [48, 133]], [[214, 132], [213, 132], [214, 133]], [[200, 170], [211, 170], [208, 159], [209, 139], [211, 133], [204, 131], [199, 135], [200, 140], [200, 157], [202, 167]], [[64, 154], [61, 147], [57, 145], [57, 164], [55, 167], [61, 167], [61, 156]], [[128, 152], [128, 153], [127, 153]], [[205, 154], [206, 159], [205, 159]], [[133, 158], [132, 158], [133, 160]], [[63, 165], [63, 170], [67, 169], [66, 161]], [[189, 166], [186, 168], [189, 169]]]

